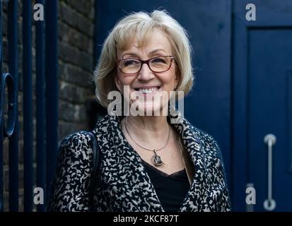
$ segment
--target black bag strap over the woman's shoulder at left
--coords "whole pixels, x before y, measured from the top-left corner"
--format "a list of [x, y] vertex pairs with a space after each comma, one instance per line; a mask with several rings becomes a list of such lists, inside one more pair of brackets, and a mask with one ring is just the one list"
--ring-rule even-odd
[[93, 194], [94, 194], [94, 189], [96, 186], [96, 174], [97, 171], [100, 167], [100, 150], [98, 148], [98, 141], [96, 139], [96, 136], [93, 132], [88, 131], [88, 135], [90, 136], [90, 139], [93, 143], [93, 172], [90, 177], [90, 190], [89, 190], [89, 201], [90, 201], [90, 211], [94, 210], [94, 200], [93, 200]]

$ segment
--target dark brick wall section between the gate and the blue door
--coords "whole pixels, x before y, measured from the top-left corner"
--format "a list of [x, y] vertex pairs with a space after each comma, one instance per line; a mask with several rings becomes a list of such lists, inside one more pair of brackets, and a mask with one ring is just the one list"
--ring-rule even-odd
[[59, 138], [89, 128], [94, 1], [59, 1]]

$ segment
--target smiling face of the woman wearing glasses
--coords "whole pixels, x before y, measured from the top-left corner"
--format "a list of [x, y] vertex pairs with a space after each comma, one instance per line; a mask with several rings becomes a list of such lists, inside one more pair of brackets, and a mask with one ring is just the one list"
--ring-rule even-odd
[[[134, 37], [129, 48], [117, 51], [118, 59], [147, 60], [159, 56], [173, 56], [173, 51], [165, 32], [158, 29], [154, 29], [151, 34], [148, 34], [146, 44], [141, 45]], [[175, 90], [177, 85], [174, 61], [168, 71], [159, 73], [151, 71], [147, 64], [142, 65], [141, 71], [132, 74], [122, 73], [117, 68], [115, 78], [117, 88], [124, 94], [129, 104], [138, 105], [141, 112], [152, 112], [152, 115], [155, 112], [161, 112], [163, 107], [168, 104], [170, 91]], [[156, 62], [154, 63], [156, 64]]]

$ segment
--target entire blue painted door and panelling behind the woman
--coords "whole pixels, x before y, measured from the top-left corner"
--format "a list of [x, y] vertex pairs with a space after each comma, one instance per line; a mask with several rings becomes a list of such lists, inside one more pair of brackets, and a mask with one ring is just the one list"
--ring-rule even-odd
[[[233, 210], [288, 211], [292, 210], [292, 1], [252, 1], [255, 21], [245, 18], [250, 3], [98, 1], [97, 43], [103, 43], [125, 12], [165, 7], [188, 30], [194, 47], [196, 84], [185, 99], [185, 116], [218, 141]], [[276, 137], [275, 143], [269, 139], [264, 143], [268, 134]], [[245, 202], [247, 186], [255, 188], [255, 205]]]

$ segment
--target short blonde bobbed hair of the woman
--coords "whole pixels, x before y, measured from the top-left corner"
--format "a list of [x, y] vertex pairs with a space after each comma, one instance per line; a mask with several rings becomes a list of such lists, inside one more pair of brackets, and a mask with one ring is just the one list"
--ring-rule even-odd
[[173, 57], [177, 65], [178, 83], [176, 91], [184, 91], [187, 95], [192, 88], [192, 46], [187, 32], [182, 25], [172, 18], [166, 11], [152, 13], [130, 13], [119, 20], [103, 43], [98, 64], [93, 73], [96, 85], [95, 95], [103, 107], [107, 107], [111, 100], [107, 94], [117, 90], [115, 76], [117, 76], [117, 51], [127, 49], [133, 37], [137, 37], [141, 44], [154, 28], [165, 32], [173, 49]]

